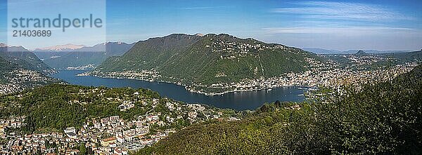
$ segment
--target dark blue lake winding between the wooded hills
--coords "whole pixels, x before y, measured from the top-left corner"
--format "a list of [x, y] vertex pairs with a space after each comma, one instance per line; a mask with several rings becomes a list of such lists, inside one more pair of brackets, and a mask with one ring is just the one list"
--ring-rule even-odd
[[274, 102], [276, 100], [293, 102], [301, 102], [305, 100], [305, 97], [302, 95], [304, 90], [296, 87], [281, 87], [272, 88], [271, 91], [253, 90], [207, 96], [188, 92], [184, 86], [178, 86], [173, 83], [140, 81], [133, 79], [108, 79], [94, 76], [76, 76], [82, 72], [86, 71], [61, 70], [52, 76], [57, 79], [67, 81], [68, 83], [82, 86], [148, 88], [160, 93], [162, 96], [170, 97], [174, 100], [187, 103], [203, 103], [214, 107], [236, 110], [257, 109], [257, 107], [261, 107], [264, 102]]

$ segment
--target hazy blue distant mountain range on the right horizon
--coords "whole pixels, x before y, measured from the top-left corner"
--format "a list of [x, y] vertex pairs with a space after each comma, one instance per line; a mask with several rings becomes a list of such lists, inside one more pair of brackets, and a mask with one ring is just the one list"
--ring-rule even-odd
[[[323, 48], [303, 48], [303, 50], [307, 50], [312, 53], [316, 54], [353, 54], [357, 53], [359, 50], [327, 50]], [[365, 53], [404, 53], [410, 52], [411, 50], [363, 50]]]

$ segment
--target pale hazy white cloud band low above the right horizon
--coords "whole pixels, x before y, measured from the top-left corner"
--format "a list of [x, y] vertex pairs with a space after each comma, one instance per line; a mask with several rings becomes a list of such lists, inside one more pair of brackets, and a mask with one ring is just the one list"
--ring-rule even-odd
[[404, 27], [269, 27], [262, 40], [296, 47], [336, 50], [415, 50], [421, 29]]

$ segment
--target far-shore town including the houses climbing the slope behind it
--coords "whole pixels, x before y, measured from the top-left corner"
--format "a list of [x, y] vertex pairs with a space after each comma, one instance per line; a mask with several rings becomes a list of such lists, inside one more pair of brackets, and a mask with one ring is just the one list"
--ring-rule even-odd
[[[192, 86], [186, 86], [186, 89], [195, 93], [219, 95], [229, 92], [262, 90], [283, 86], [324, 86], [328, 88], [335, 88], [337, 86], [349, 84], [359, 88], [359, 86], [362, 86], [364, 83], [377, 83], [392, 79], [399, 74], [409, 72], [418, 65], [417, 62], [407, 62], [403, 65], [394, 65], [392, 67], [366, 69], [366, 66], [372, 65], [374, 62], [384, 60], [385, 58], [379, 58], [372, 55], [362, 57], [348, 55], [347, 58], [350, 59], [351, 62], [350, 65], [347, 65], [346, 67], [340, 67], [340, 65], [333, 60], [327, 60], [326, 62], [321, 63], [312, 58], [305, 58], [309, 64], [309, 70], [306, 72], [290, 72], [281, 76], [260, 79], [244, 79], [240, 82], [232, 83], [214, 83], [210, 86], [193, 83]], [[201, 87], [217, 88], [226, 91], [223, 93], [208, 93], [196, 90], [196, 88]]]

